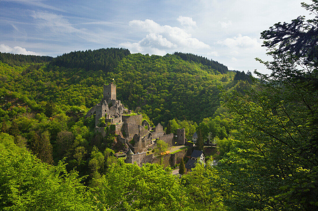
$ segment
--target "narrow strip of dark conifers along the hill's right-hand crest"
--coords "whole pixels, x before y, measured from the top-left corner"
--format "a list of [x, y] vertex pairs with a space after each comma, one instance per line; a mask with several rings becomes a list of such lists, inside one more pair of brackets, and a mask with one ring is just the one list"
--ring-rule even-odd
[[217, 61], [213, 61], [213, 60], [209, 60], [207, 59], [206, 57], [203, 57], [203, 56], [198, 56], [198, 55], [195, 55], [195, 54], [190, 54], [190, 53], [181, 53], [181, 52], [175, 52], [173, 53], [175, 55], [178, 55], [181, 57], [181, 59], [185, 60], [185, 61], [194, 61], [194, 62], [197, 62], [197, 63], [201, 63], [203, 65], [206, 65], [212, 69], [215, 69], [217, 70], [218, 72], [220, 73], [226, 73], [228, 70], [228, 68], [223, 65], [223, 64], [220, 64], [219, 62]]

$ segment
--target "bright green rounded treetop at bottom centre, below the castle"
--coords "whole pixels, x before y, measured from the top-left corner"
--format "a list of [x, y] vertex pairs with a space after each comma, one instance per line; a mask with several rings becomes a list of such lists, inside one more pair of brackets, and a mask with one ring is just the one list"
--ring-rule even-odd
[[118, 160], [96, 183], [97, 210], [183, 210], [187, 200], [176, 177], [156, 164], [140, 168]]

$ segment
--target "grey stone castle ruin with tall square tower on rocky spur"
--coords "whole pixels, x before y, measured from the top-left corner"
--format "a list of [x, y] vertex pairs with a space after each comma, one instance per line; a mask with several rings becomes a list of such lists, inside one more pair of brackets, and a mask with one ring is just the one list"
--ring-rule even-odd
[[114, 83], [104, 85], [103, 88], [103, 99], [85, 116], [87, 118], [95, 115], [95, 133], [100, 132], [103, 137], [107, 133], [115, 134], [116, 142], [127, 144], [133, 153], [144, 151], [148, 146], [156, 144], [158, 139], [170, 146], [175, 144], [173, 134], [167, 135], [160, 123], [151, 127], [142, 118], [142, 114], [125, 108], [121, 101], [116, 99]]

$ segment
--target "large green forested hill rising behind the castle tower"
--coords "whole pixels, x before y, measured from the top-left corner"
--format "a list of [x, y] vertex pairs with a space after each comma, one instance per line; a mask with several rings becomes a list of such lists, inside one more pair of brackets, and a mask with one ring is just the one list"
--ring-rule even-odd
[[[94, 60], [94, 55], [107, 58], [108, 71], [100, 68], [87, 71], [90, 67], [85, 64]], [[54, 65], [58, 61], [59, 65], [71, 67]], [[233, 81], [234, 72], [220, 74], [209, 66], [184, 61], [177, 55], [130, 54], [127, 49], [118, 48], [72, 52], [48, 64], [10, 68], [2, 63], [1, 74], [6, 75], [0, 80], [3, 96], [25, 96], [37, 103], [52, 100], [56, 105], [66, 106], [65, 110], [69, 106], [84, 110], [93, 107], [101, 99], [103, 84], [114, 78], [117, 98], [129, 109], [140, 108], [155, 124], [167, 124], [173, 118], [200, 122], [211, 117], [220, 105], [218, 85], [226, 89], [247, 86], [245, 82], [237, 85], [238, 81]]]

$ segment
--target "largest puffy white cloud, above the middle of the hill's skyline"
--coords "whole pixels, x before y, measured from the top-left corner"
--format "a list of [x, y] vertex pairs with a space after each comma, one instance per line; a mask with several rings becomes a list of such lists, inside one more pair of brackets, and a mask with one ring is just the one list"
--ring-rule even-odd
[[169, 50], [170, 53], [175, 50], [191, 52], [193, 52], [193, 50], [211, 50], [211, 47], [208, 44], [193, 38], [191, 34], [185, 31], [185, 29], [168, 25], [161, 26], [149, 19], [146, 19], [145, 21], [130, 21], [129, 26], [134, 27], [138, 31], [148, 33], [146, 37], [138, 42], [125, 42], [119, 44], [120, 46], [128, 48], [133, 53], [140, 52], [144, 54], [165, 55], [167, 50]]

